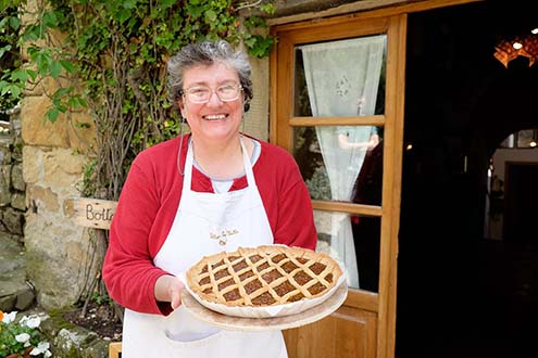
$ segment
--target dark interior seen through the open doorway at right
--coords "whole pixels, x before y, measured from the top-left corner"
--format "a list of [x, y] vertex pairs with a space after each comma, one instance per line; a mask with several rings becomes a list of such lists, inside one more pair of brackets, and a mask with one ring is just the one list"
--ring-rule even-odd
[[538, 128], [538, 63], [493, 57], [538, 27], [535, 3], [409, 15], [397, 357], [538, 357], [538, 166], [513, 168], [510, 238], [484, 230], [490, 156]]

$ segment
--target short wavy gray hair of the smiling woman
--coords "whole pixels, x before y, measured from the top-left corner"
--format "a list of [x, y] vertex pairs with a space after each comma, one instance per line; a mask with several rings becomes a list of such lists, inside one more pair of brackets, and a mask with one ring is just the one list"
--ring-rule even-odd
[[237, 71], [245, 95], [245, 112], [247, 112], [253, 95], [249, 59], [245, 52], [232, 49], [225, 40], [190, 43], [170, 59], [166, 67], [170, 101], [177, 107], [177, 102], [183, 95], [183, 77], [187, 69], [200, 65], [210, 66], [216, 62], [223, 62]]

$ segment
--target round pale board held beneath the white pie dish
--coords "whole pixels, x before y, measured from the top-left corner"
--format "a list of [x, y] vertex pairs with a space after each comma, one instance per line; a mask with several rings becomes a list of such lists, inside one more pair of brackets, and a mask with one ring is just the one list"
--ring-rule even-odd
[[182, 307], [188, 312], [208, 324], [236, 331], [271, 331], [287, 330], [318, 321], [337, 310], [348, 296], [346, 280], [335, 285], [335, 291], [320, 303], [299, 314], [276, 316], [271, 318], [233, 317], [220, 314], [201, 305], [193, 296], [184, 290], [182, 293]]

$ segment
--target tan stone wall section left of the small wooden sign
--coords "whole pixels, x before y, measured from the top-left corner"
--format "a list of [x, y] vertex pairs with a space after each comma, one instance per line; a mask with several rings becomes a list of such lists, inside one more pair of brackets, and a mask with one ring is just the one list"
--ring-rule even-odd
[[87, 158], [68, 118], [46, 122], [47, 102], [26, 98], [22, 105], [23, 177], [26, 182], [25, 246], [28, 279], [43, 308], [77, 301], [88, 274], [93, 244], [74, 225], [71, 200]]

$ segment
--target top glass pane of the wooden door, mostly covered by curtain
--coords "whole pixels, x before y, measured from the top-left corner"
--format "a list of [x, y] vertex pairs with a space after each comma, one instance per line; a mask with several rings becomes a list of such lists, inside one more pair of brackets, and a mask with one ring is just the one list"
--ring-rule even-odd
[[385, 112], [386, 35], [298, 46], [296, 116]]

